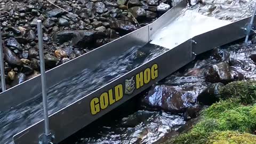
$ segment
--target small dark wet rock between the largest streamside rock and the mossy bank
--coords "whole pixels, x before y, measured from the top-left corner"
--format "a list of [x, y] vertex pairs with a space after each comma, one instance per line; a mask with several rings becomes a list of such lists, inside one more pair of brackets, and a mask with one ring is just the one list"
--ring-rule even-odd
[[198, 112], [202, 109], [202, 106], [195, 105], [187, 108], [186, 112], [183, 113], [183, 118], [185, 121], [188, 121], [191, 118], [196, 118], [198, 116]]

